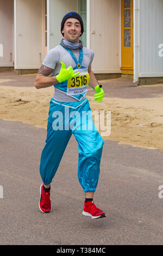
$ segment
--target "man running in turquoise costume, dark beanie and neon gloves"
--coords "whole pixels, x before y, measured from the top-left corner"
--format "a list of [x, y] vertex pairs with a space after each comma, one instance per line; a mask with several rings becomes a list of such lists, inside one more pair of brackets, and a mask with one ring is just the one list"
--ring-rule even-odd
[[[78, 179], [85, 192], [83, 215], [102, 218], [106, 216], [105, 212], [95, 206], [93, 193], [98, 183], [104, 142], [93, 124], [86, 88], [90, 85], [95, 89], [94, 96], [98, 102], [103, 99], [104, 91], [91, 70], [94, 53], [83, 47], [79, 40], [83, 31], [83, 20], [78, 13], [71, 12], [63, 17], [61, 33], [64, 39], [59, 46], [48, 51], [35, 80], [37, 89], [53, 85], [55, 87], [49, 108], [46, 145], [40, 161], [43, 184], [40, 186], [39, 209], [42, 212], [52, 211], [51, 182], [73, 133], [79, 149]], [[56, 121], [61, 120], [56, 119], [59, 111], [64, 117], [61, 127]], [[74, 113], [77, 116], [76, 126], [72, 127]], [[87, 118], [84, 119], [85, 115]]]

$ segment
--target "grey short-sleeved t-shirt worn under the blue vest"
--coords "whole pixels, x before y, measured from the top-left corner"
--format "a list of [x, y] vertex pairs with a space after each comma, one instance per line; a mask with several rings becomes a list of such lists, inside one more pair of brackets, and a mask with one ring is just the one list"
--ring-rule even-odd
[[[72, 50], [72, 52], [78, 60], [79, 49]], [[85, 68], [88, 68], [92, 64], [93, 57], [94, 57], [94, 52], [89, 48], [83, 47], [82, 66], [85, 66]], [[48, 66], [48, 68], [53, 69], [52, 75], [56, 76], [60, 72], [61, 62], [65, 63], [66, 68], [68, 68], [68, 66], [70, 65], [72, 66], [72, 68], [76, 66], [76, 63], [74, 62], [70, 53], [68, 53], [64, 47], [62, 47], [61, 45], [58, 45], [47, 52], [42, 64], [45, 66]], [[82, 99], [84, 99], [85, 97], [86, 95]], [[78, 101], [74, 99], [74, 97], [71, 97], [69, 95], [66, 95], [65, 93], [60, 92], [60, 90], [58, 90], [57, 88], [55, 88], [53, 99], [58, 101], [64, 101], [64, 102]]]

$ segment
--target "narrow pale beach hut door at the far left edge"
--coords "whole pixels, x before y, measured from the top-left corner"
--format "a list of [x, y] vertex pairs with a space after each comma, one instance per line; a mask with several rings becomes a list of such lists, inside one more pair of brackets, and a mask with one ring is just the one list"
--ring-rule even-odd
[[14, 0], [0, 0], [0, 66], [14, 66]]

